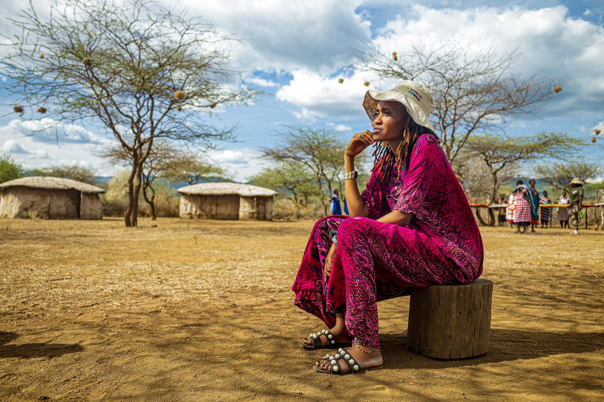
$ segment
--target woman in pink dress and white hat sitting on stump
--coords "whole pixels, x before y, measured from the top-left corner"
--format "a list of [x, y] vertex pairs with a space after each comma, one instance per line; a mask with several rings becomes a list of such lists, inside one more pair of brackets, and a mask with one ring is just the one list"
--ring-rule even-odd
[[[480, 231], [428, 121], [432, 104], [413, 81], [365, 95], [373, 133], [355, 134], [344, 153], [350, 217], [316, 222], [292, 287], [295, 304], [329, 328], [303, 347], [340, 347], [315, 363], [318, 372], [382, 367], [377, 301], [480, 277]], [[355, 156], [372, 144], [375, 164], [360, 194]]]

